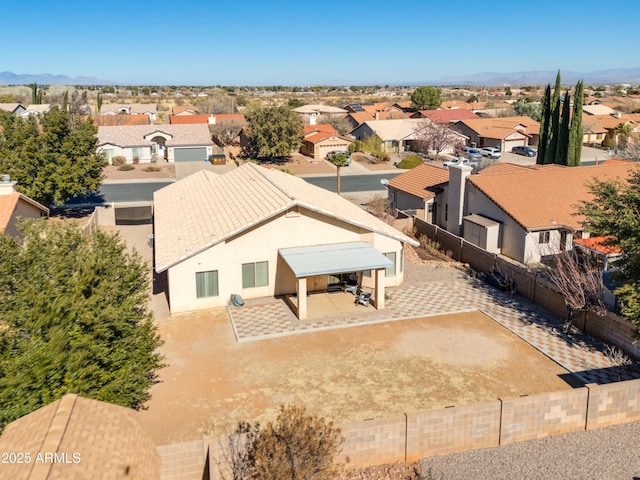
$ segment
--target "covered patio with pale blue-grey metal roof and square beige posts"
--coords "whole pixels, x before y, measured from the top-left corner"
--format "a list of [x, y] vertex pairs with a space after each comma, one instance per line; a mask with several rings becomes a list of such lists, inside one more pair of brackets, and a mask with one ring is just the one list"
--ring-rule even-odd
[[[371, 303], [378, 310], [384, 309], [385, 270], [394, 267], [394, 263], [370, 244], [349, 242], [283, 248], [278, 250], [278, 253], [296, 279], [296, 293], [288, 295], [286, 299], [299, 320], [326, 316], [329, 312], [343, 313], [357, 308], [356, 297], [352, 293], [328, 293], [328, 287], [336, 285], [328, 280], [326, 283], [319, 282], [322, 286], [321, 297], [309, 297], [310, 292], [316, 291], [318, 277], [340, 278], [340, 274], [355, 274], [357, 287], [350, 285], [352, 288], [355, 287], [353, 293], [357, 294], [356, 288], [371, 291]], [[367, 280], [371, 282], [368, 288], [363, 285]], [[313, 301], [310, 301], [310, 298], [313, 298]]]

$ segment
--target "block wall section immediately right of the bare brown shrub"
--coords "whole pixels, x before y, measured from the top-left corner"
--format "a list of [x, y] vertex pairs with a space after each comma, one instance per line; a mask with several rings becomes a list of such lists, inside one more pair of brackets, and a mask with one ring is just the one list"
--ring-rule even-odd
[[339, 462], [349, 458], [349, 466], [359, 467], [404, 461], [407, 417], [376, 418], [338, 425], [344, 443]]

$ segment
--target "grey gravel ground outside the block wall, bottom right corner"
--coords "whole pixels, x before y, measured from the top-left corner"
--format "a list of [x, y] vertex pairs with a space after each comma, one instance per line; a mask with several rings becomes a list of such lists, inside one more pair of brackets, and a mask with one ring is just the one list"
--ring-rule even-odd
[[640, 479], [640, 422], [424, 458], [433, 480]]

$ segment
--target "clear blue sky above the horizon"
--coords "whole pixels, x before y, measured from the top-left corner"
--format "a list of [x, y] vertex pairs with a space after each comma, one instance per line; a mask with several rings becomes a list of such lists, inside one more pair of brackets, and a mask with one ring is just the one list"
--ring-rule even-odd
[[9, 2], [3, 18], [13, 28], [0, 32], [0, 71], [121, 84], [385, 85], [482, 72], [640, 67], [634, 44], [624, 46], [637, 31], [640, 2], [616, 4], [615, 12], [609, 5]]

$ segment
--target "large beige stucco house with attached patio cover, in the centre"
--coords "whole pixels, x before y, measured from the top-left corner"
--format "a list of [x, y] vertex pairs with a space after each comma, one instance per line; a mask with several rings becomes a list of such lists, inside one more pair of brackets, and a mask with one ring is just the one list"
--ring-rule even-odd
[[301, 178], [247, 163], [200, 171], [154, 193], [155, 270], [167, 272], [172, 312], [326, 291], [356, 273], [384, 308], [417, 242], [350, 201]]

